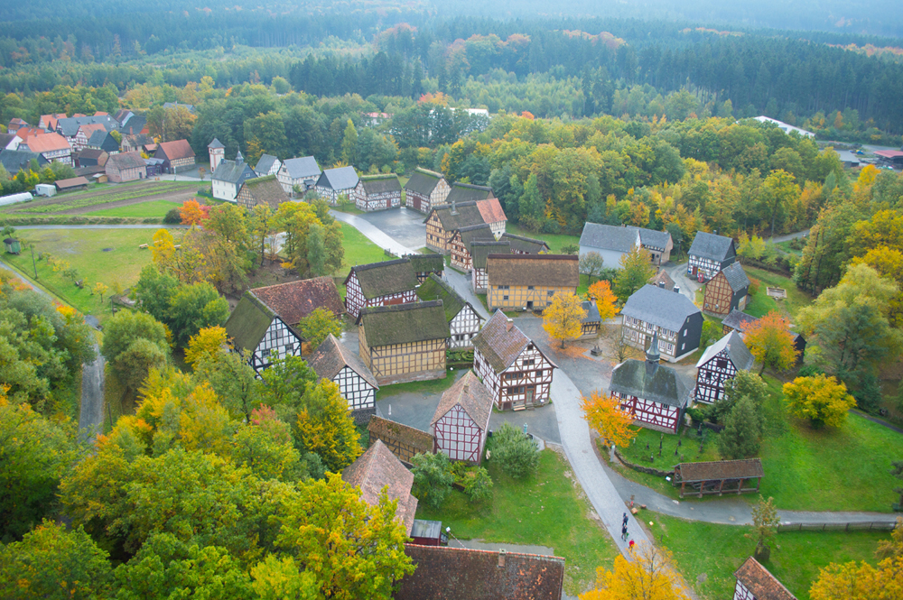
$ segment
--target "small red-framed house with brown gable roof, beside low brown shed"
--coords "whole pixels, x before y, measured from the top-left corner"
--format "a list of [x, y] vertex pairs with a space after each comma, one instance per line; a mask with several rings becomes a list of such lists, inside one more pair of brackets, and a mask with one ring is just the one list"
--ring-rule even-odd
[[479, 383], [473, 371], [453, 383], [442, 393], [442, 400], [430, 421], [433, 452], [442, 452], [453, 461], [479, 465], [486, 447], [492, 400], [492, 393]]

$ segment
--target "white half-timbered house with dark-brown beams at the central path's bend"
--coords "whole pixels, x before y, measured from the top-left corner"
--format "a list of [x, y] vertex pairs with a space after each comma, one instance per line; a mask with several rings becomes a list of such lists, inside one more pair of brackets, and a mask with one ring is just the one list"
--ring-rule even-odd
[[501, 310], [473, 338], [474, 373], [502, 411], [548, 402], [556, 368]]

